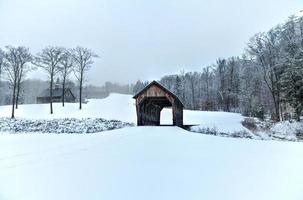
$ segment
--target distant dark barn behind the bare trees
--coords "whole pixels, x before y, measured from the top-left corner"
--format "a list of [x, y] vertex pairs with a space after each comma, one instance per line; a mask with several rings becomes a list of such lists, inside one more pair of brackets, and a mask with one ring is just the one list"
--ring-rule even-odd
[[[53, 89], [53, 102], [62, 102], [63, 89], [54, 88]], [[65, 89], [65, 102], [73, 103], [76, 101], [76, 97], [69, 88]], [[50, 103], [50, 91], [49, 89], [45, 90], [40, 96], [37, 97], [37, 103]]]

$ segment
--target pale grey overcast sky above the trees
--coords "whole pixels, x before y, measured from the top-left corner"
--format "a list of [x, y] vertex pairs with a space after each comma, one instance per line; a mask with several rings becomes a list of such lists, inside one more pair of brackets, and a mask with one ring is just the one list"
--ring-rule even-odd
[[0, 47], [81, 45], [100, 56], [90, 83], [128, 83], [241, 55], [251, 36], [302, 9], [302, 0], [0, 0]]

